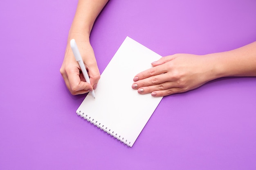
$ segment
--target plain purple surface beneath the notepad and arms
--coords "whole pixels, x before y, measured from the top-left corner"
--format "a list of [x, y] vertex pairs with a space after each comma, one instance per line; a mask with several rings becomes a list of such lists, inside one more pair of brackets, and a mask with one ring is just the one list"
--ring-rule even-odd
[[[85, 95], [59, 73], [76, 4], [0, 1], [0, 169], [256, 169], [255, 77], [164, 97], [132, 148], [78, 117]], [[103, 72], [126, 36], [162, 56], [222, 52], [256, 40], [255, 16], [255, 0], [110, 0], [91, 43]]]

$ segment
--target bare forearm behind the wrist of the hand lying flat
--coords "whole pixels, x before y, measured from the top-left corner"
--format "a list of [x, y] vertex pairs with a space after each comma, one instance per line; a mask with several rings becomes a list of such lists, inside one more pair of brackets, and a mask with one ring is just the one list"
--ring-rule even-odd
[[256, 41], [227, 52], [208, 54], [212, 59], [215, 78], [256, 76]]

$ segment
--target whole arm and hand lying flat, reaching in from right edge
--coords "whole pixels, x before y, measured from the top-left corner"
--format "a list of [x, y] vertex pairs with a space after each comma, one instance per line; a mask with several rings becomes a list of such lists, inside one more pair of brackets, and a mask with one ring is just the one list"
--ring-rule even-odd
[[227, 52], [174, 54], [151, 64], [135, 75], [133, 89], [154, 97], [182, 93], [220, 77], [256, 76], [256, 41]]

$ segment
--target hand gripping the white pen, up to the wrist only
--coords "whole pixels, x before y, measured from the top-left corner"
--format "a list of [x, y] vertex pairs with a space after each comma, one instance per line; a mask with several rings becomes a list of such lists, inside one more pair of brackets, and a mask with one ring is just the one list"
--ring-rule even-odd
[[[90, 83], [85, 82], [83, 73], [76, 61], [72, 49], [70, 47], [70, 40], [75, 39], [79, 48], [79, 52], [85, 63], [90, 77]], [[100, 78], [99, 68], [94, 56], [94, 51], [90, 44], [89, 36], [80, 33], [71, 33], [67, 40], [67, 47], [65, 57], [60, 69], [61, 75], [65, 81], [67, 88], [72, 95], [85, 94], [97, 88], [97, 83]]]

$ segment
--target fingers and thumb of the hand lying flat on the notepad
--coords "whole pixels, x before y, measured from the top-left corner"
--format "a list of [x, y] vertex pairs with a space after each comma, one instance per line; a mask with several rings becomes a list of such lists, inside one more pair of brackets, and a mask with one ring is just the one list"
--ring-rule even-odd
[[132, 89], [137, 89], [139, 94], [151, 93], [153, 97], [185, 92], [187, 87], [181, 83], [182, 81], [177, 81], [173, 73], [170, 75], [173, 66], [169, 61], [176, 57], [177, 55], [162, 57], [151, 63], [153, 68], [140, 72], [134, 77]]

